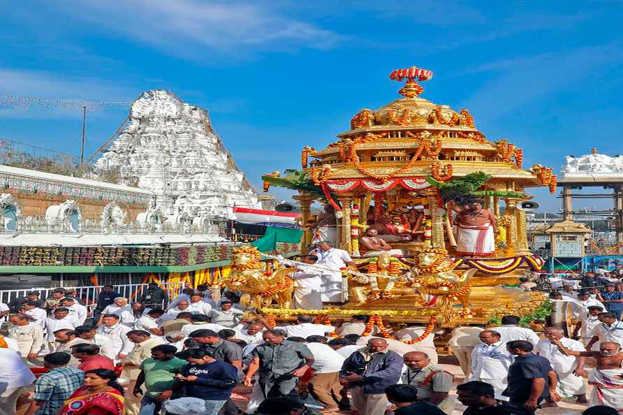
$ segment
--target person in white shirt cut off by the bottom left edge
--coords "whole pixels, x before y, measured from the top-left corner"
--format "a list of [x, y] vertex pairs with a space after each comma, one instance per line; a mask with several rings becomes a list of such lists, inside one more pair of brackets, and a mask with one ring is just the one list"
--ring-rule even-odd
[[17, 399], [28, 395], [24, 386], [33, 384], [35, 377], [16, 351], [0, 347], [0, 362], [0, 414], [12, 415]]

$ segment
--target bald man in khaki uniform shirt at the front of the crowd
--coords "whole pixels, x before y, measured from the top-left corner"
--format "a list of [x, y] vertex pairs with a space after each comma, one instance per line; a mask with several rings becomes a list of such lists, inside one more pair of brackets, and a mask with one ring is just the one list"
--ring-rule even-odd
[[421, 351], [409, 351], [402, 358], [407, 367], [402, 374], [402, 383], [418, 389], [418, 400], [425, 400], [446, 414], [452, 414], [455, 400], [448, 396], [452, 374], [430, 363], [428, 355]]

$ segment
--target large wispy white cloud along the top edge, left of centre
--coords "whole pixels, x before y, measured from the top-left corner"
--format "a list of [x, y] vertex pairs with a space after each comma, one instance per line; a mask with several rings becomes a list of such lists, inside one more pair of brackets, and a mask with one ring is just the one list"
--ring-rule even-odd
[[204, 59], [250, 48], [330, 48], [340, 36], [272, 9], [271, 3], [200, 0], [66, 1], [57, 11], [169, 54]]

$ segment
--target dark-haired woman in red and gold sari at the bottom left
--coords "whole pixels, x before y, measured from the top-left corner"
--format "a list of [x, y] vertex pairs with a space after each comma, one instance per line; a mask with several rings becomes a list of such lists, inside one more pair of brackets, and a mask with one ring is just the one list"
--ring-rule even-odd
[[117, 374], [108, 369], [85, 372], [85, 382], [68, 400], [58, 415], [122, 415], [123, 388]]

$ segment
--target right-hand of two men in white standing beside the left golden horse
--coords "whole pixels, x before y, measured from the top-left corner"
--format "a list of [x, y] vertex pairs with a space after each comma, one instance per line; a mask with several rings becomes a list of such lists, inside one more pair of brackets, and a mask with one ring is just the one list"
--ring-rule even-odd
[[342, 301], [342, 271], [341, 268], [346, 268], [355, 265], [351, 256], [344, 249], [337, 249], [333, 247], [333, 243], [327, 240], [318, 243], [318, 248], [309, 252], [311, 255], [318, 257], [318, 265], [323, 265], [325, 268], [335, 270], [333, 272], [329, 270], [322, 270], [322, 300], [330, 303], [339, 303]]

